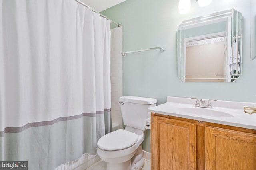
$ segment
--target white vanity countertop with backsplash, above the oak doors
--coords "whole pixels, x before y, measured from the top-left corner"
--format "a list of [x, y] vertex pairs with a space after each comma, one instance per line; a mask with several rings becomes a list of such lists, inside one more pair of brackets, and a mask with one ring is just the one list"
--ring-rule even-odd
[[[208, 100], [206, 100], [207, 102]], [[213, 108], [195, 107], [196, 100], [190, 98], [167, 97], [167, 102], [148, 109], [149, 112], [207, 121], [236, 127], [244, 127], [256, 130], [256, 113], [252, 115], [244, 112], [244, 106], [256, 106], [256, 103], [230, 102], [230, 101], [211, 101]], [[189, 113], [184, 108], [193, 109], [197, 113]], [[220, 115], [211, 113], [220, 111]], [[205, 113], [204, 113], [205, 112]], [[226, 114], [222, 115], [224, 112]], [[210, 113], [210, 114], [209, 114]], [[208, 114], [208, 115], [207, 115]]]

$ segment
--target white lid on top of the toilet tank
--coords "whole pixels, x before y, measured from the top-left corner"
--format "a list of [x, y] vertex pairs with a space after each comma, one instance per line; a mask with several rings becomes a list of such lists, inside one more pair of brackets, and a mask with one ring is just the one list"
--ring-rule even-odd
[[137, 103], [137, 104], [155, 104], [156, 103], [156, 99], [144, 98], [144, 97], [138, 97], [138, 96], [122, 96], [119, 98], [119, 101]]

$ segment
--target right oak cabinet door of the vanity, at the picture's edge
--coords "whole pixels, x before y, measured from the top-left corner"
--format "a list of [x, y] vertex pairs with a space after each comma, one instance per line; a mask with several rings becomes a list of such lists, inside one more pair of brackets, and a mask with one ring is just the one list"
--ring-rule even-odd
[[206, 127], [206, 170], [256, 170], [256, 135]]

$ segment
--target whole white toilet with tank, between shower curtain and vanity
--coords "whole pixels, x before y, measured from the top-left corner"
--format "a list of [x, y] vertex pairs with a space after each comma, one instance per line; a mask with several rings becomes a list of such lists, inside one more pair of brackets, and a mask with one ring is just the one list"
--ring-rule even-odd
[[97, 154], [107, 162], [107, 170], [140, 170], [144, 165], [141, 144], [146, 128], [143, 121], [150, 117], [147, 109], [156, 106], [156, 99], [123, 96], [119, 101], [126, 127], [101, 137]]

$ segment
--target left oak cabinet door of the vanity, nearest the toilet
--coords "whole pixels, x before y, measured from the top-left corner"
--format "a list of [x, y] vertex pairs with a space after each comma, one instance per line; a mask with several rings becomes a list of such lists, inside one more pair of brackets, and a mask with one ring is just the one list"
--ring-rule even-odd
[[152, 116], [151, 169], [196, 169], [196, 124]]

